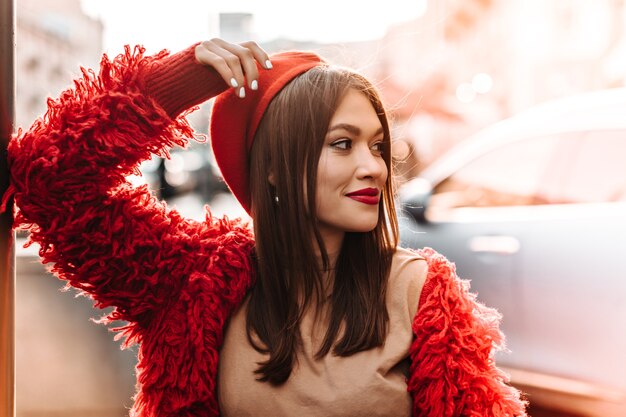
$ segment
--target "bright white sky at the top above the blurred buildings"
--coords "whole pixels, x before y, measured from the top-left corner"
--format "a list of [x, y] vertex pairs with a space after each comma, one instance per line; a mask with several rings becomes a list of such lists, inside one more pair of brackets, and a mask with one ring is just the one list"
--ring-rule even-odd
[[136, 43], [148, 51], [183, 49], [218, 36], [220, 12], [254, 13], [253, 40], [260, 42], [281, 36], [318, 42], [376, 39], [390, 25], [422, 15], [428, 0], [385, 0], [374, 3], [376, 7], [363, 4], [338, 0], [82, 0], [85, 13], [104, 23], [104, 49], [108, 52]]

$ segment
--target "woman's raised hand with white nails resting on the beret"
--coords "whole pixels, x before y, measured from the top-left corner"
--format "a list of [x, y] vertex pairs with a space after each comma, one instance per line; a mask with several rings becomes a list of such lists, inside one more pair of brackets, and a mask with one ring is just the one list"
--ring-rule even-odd
[[267, 53], [252, 41], [234, 44], [211, 39], [196, 46], [195, 57], [199, 63], [213, 67], [226, 84], [237, 89], [241, 98], [246, 96], [246, 82], [251, 90], [258, 88], [259, 71], [255, 61], [262, 68], [272, 68]]

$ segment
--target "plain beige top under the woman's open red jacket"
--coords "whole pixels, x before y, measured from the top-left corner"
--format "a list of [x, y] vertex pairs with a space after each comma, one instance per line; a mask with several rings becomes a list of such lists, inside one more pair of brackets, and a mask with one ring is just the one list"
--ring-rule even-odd
[[[407, 392], [411, 323], [426, 278], [426, 262], [406, 249], [394, 255], [387, 289], [389, 333], [384, 346], [349, 357], [329, 353], [315, 359], [327, 321], [307, 312], [301, 323], [302, 351], [289, 379], [279, 387], [255, 379], [267, 355], [246, 336], [245, 307], [233, 315], [220, 352], [218, 398], [221, 415], [245, 416], [410, 416]], [[318, 323], [316, 325], [316, 323]]]

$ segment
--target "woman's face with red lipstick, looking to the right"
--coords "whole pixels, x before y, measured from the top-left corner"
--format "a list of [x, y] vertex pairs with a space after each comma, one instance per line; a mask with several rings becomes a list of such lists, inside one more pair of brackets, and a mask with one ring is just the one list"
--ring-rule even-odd
[[330, 121], [317, 168], [322, 236], [376, 227], [388, 175], [383, 140], [383, 127], [367, 96], [349, 90]]

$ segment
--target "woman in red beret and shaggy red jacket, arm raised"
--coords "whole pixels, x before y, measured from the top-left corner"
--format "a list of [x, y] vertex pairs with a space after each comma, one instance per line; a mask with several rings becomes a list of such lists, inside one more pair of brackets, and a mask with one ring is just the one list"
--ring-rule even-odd
[[[125, 177], [194, 132], [251, 214], [185, 219]], [[141, 48], [9, 146], [16, 225], [139, 343], [132, 416], [524, 416], [497, 312], [432, 249], [398, 248], [374, 87], [310, 53]], [[253, 238], [254, 236], [254, 238]]]

